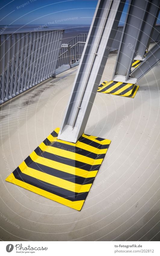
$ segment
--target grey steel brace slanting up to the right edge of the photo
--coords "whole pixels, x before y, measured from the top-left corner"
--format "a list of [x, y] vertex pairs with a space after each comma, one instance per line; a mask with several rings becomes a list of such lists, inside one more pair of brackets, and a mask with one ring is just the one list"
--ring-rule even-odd
[[[156, 63], [160, 60], [160, 41], [152, 47], [152, 49], [147, 52], [145, 60], [135, 68], [131, 77], [138, 81], [141, 77], [143, 77], [151, 68], [153, 68]], [[160, 63], [158, 63], [160, 65]]]

